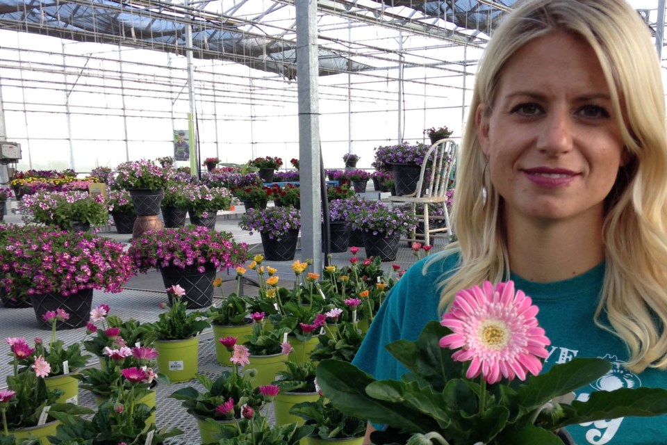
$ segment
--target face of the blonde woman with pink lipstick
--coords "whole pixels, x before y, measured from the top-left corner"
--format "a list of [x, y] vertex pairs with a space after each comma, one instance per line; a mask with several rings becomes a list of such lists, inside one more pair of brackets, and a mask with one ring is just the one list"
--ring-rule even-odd
[[509, 221], [601, 223], [625, 164], [609, 88], [593, 49], [569, 33], [532, 40], [508, 60], [477, 132]]

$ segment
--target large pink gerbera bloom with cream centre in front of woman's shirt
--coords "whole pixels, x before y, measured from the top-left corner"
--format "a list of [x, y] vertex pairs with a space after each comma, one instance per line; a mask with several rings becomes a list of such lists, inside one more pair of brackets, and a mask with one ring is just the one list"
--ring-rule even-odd
[[450, 312], [440, 324], [453, 333], [440, 339], [440, 347], [459, 349], [452, 359], [470, 362], [467, 378], [481, 373], [486, 382], [502, 377], [525, 380], [527, 372], [537, 375], [546, 358], [550, 340], [537, 325], [538, 307], [514, 283], [484, 282], [456, 294]]

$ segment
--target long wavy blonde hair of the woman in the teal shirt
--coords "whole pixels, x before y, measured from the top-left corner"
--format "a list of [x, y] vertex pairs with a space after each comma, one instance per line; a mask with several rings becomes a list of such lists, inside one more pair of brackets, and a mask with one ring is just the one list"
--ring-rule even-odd
[[[607, 197], [604, 221], [606, 273], [595, 322], [606, 311], [611, 332], [629, 349], [628, 369], [667, 369], [667, 134], [657, 54], [639, 14], [625, 0], [534, 0], [511, 13], [480, 61], [463, 134], [453, 227], [459, 238], [438, 258], [458, 252], [461, 263], [440, 282], [440, 310], [456, 291], [484, 280], [509, 279], [500, 211], [502, 199], [484, 172], [475, 112], [493, 106], [507, 60], [523, 45], [554, 31], [575, 33], [591, 45], [609, 85], [627, 152]], [[482, 187], [488, 202], [482, 202]], [[427, 264], [425, 267], [429, 266]], [[601, 327], [604, 327], [600, 325]], [[607, 327], [604, 327], [607, 328]]]

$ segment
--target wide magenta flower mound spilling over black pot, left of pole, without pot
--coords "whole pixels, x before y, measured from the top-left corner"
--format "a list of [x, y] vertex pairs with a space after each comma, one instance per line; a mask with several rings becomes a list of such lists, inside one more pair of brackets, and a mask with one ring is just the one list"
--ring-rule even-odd
[[236, 268], [247, 259], [248, 251], [245, 243], [236, 243], [227, 232], [187, 225], [158, 232], [151, 230], [134, 238], [129, 255], [141, 273], [168, 266], [181, 269], [197, 266], [199, 273], [204, 273], [207, 263], [218, 270]]

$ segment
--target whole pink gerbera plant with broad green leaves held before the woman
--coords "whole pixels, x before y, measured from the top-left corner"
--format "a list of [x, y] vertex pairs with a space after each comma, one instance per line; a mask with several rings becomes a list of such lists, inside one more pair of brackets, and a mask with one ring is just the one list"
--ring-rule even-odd
[[666, 389], [597, 391], [573, 401], [570, 393], [611, 364], [575, 358], [541, 373], [550, 340], [537, 313], [513, 282], [484, 282], [457, 293], [442, 321], [428, 323], [417, 341], [386, 346], [410, 371], [401, 382], [324, 360], [318, 384], [344, 414], [388, 426], [372, 433], [376, 445], [558, 445], [557, 432], [570, 424], [667, 412]]

